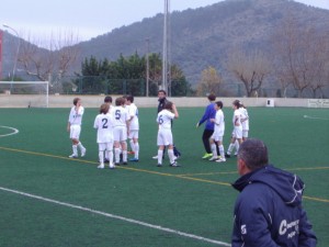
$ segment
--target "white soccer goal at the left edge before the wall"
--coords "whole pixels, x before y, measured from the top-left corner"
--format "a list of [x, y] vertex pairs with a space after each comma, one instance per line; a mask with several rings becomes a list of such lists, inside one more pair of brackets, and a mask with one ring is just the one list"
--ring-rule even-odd
[[0, 81], [0, 93], [22, 96], [27, 108], [49, 106], [48, 81]]

